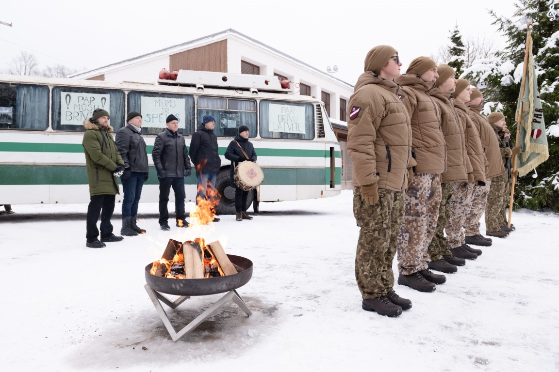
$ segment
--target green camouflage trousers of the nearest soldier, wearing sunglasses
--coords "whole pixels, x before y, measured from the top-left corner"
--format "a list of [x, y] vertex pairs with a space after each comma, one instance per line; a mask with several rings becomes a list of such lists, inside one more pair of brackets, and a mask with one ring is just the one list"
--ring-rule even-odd
[[377, 204], [370, 205], [361, 197], [361, 187], [354, 187], [353, 215], [361, 228], [355, 256], [359, 291], [363, 298], [386, 296], [394, 287], [392, 262], [404, 216], [404, 194], [379, 189]]

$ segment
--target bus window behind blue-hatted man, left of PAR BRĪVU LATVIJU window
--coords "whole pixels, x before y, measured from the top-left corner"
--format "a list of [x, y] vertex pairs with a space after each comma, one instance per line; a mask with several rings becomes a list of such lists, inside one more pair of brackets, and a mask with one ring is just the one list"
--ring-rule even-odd
[[239, 127], [246, 125], [249, 136], [256, 136], [256, 102], [247, 99], [200, 97], [198, 98], [198, 125], [204, 115], [215, 118], [214, 133], [219, 137], [235, 137]]

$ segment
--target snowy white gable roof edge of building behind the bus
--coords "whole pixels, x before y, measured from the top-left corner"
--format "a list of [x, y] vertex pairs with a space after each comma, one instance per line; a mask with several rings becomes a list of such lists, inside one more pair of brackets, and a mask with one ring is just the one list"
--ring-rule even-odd
[[187, 41], [187, 42], [184, 42], [182, 44], [177, 44], [177, 45], [173, 45], [173, 46], [170, 46], [170, 47], [167, 47], [167, 48], [164, 48], [164, 49], [160, 49], [160, 50], [157, 50], [157, 51], [154, 51], [154, 52], [150, 52], [148, 54], [143, 54], [143, 55], [132, 57], [130, 59], [126, 59], [126, 60], [123, 60], [123, 61], [120, 61], [120, 62], [115, 62], [115, 63], [110, 64], [110, 65], [97, 67], [96, 69], [82, 71], [82, 72], [77, 73], [77, 74], [69, 75], [69, 77], [70, 78], [88, 78], [88, 77], [91, 77], [91, 76], [101, 75], [103, 73], [106, 73], [107, 71], [115, 70], [119, 67], [132, 65], [132, 64], [138, 63], [138, 62], [143, 61], [143, 60], [149, 60], [149, 59], [153, 59], [153, 58], [164, 56], [164, 55], [175, 54], [175, 53], [178, 53], [178, 52], [181, 52], [181, 51], [184, 51], [184, 50], [193, 49], [193, 48], [198, 47], [198, 46], [210, 44], [211, 42], [224, 40], [224, 39], [226, 39], [228, 37], [231, 37], [231, 36], [238, 37], [241, 40], [249, 42], [250, 44], [254, 44], [255, 46], [258, 46], [262, 49], [266, 49], [269, 52], [272, 52], [273, 54], [277, 54], [277, 55], [279, 55], [279, 56], [281, 56], [281, 57], [283, 57], [287, 60], [290, 60], [290, 61], [296, 63], [296, 64], [302, 65], [309, 70], [314, 70], [316, 73], [324, 75], [324, 76], [326, 76], [330, 79], [337, 80], [339, 83], [345, 84], [345, 85], [349, 86], [350, 88], [353, 88], [353, 85], [351, 85], [349, 83], [346, 83], [345, 81], [340, 80], [338, 78], [335, 78], [334, 76], [332, 76], [328, 73], [325, 73], [324, 71], [321, 71], [321, 70], [317, 69], [316, 67], [313, 67], [309, 64], [306, 64], [303, 61], [300, 61], [296, 58], [293, 58], [292, 56], [287, 55], [287, 54], [285, 54], [285, 53], [283, 53], [283, 52], [281, 52], [277, 49], [274, 49], [271, 46], [263, 44], [262, 42], [260, 42], [258, 40], [255, 40], [252, 37], [249, 37], [247, 35], [244, 35], [243, 33], [237, 32], [237, 31], [233, 30], [233, 28], [229, 28], [228, 30], [225, 30], [225, 31], [222, 31], [222, 32], [213, 33], [211, 35], [207, 35], [207, 36], [200, 37], [200, 38], [197, 38], [197, 39], [194, 39], [194, 40], [191, 40], [191, 41]]

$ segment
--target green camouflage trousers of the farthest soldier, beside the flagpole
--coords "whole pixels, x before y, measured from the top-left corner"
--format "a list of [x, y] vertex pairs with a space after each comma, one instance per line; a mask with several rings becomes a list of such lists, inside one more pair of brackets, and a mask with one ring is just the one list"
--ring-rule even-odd
[[506, 221], [504, 211], [508, 206], [509, 195], [506, 193], [506, 185], [509, 176], [504, 173], [491, 178], [491, 187], [487, 194], [487, 206], [485, 207], [485, 230], [500, 231]]

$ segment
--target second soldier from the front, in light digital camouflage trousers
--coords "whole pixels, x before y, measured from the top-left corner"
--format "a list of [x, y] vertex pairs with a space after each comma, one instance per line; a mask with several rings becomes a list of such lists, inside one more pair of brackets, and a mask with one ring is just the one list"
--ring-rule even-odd
[[427, 248], [439, 215], [440, 173], [446, 170], [446, 143], [440, 129], [438, 105], [429, 96], [439, 77], [437, 64], [429, 57], [410, 62], [406, 74], [395, 81], [402, 85], [402, 98], [411, 120], [415, 161], [411, 185], [406, 191], [404, 221], [398, 235], [398, 284], [421, 292], [432, 292], [446, 281], [428, 268]]

